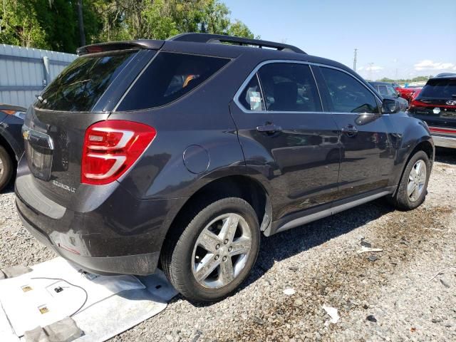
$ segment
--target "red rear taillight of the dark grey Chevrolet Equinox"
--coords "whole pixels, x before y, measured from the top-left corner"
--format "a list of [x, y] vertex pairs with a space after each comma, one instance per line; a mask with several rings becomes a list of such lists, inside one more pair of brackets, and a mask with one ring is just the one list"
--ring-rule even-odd
[[125, 120], [100, 121], [86, 130], [81, 182], [104, 185], [123, 175], [157, 135], [155, 128]]

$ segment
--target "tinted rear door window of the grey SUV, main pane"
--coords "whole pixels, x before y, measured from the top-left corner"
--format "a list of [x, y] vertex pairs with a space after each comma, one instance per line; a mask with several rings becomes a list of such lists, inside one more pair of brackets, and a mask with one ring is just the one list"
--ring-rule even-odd
[[321, 112], [311, 69], [305, 64], [270, 63], [259, 69], [267, 110]]

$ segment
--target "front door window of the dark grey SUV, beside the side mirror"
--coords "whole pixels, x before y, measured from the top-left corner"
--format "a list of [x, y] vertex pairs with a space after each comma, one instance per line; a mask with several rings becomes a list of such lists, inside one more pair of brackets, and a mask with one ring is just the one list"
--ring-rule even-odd
[[371, 91], [355, 78], [342, 71], [321, 68], [337, 113], [379, 113], [378, 103]]

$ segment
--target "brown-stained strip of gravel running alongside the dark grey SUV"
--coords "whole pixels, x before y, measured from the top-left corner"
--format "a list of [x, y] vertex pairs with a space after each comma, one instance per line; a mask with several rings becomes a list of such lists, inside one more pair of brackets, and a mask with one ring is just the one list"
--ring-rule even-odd
[[381, 217], [372, 224], [372, 234], [364, 241], [383, 252], [357, 254], [351, 249], [319, 260], [318, 266], [301, 269], [294, 279], [294, 296], [269, 307], [264, 304], [258, 311], [261, 314], [252, 316], [231, 335], [224, 335], [223, 341], [242, 341], [246, 336], [249, 341], [273, 341], [279, 336], [282, 341], [331, 336], [343, 326], [331, 324], [325, 328], [328, 316], [321, 309], [323, 304], [336, 307], [341, 316], [348, 311], [368, 309], [371, 296], [388, 286], [410, 259], [425, 253], [433, 247], [435, 239], [442, 238], [445, 233], [440, 229], [447, 227], [452, 212], [453, 208], [448, 206], [420, 207]]

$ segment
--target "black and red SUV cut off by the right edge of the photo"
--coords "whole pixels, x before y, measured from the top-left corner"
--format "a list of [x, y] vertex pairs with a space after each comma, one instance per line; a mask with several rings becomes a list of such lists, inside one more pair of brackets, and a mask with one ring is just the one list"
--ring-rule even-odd
[[456, 148], [456, 73], [430, 78], [412, 100], [410, 114], [426, 121], [435, 145]]

